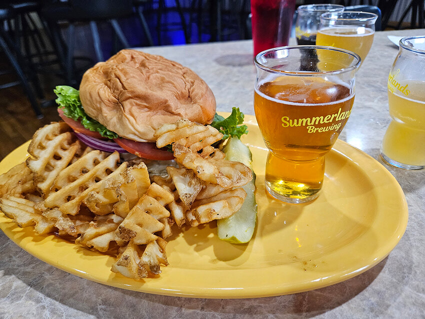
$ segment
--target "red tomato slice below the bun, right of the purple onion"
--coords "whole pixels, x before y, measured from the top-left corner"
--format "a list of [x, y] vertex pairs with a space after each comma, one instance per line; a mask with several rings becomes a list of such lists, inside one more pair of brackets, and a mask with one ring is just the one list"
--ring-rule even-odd
[[157, 160], [174, 159], [172, 152], [156, 148], [155, 143], [136, 142], [126, 138], [114, 138], [113, 140], [126, 151], [138, 157]]

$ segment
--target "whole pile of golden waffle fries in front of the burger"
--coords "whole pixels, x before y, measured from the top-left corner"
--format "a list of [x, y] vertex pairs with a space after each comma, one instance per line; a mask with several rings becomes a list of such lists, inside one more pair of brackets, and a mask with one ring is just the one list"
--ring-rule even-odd
[[21, 227], [117, 255], [111, 271], [135, 279], [159, 274], [173, 224], [232, 215], [252, 173], [212, 146], [222, 138], [212, 126], [182, 119], [155, 136], [158, 147], [173, 145], [176, 161], [166, 170], [153, 161], [148, 170], [142, 159], [119, 164], [117, 152], [86, 147], [66, 124], [46, 125], [34, 134], [26, 163], [0, 176], [0, 209]]

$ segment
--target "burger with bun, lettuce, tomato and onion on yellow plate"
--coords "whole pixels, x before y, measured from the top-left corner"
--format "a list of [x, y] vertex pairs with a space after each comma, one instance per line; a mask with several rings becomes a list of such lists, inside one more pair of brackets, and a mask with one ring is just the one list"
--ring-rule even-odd
[[156, 147], [153, 134], [180, 118], [211, 124], [223, 140], [247, 132], [238, 108], [227, 118], [216, 114], [211, 89], [192, 70], [137, 50], [124, 49], [95, 64], [84, 73], [79, 90], [56, 86], [54, 92], [59, 115], [76, 136], [104, 151], [173, 159], [170, 147]]

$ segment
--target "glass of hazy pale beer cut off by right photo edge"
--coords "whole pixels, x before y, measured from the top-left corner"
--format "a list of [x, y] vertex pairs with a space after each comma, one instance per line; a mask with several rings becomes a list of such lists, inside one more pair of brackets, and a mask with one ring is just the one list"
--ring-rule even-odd
[[425, 167], [425, 36], [399, 41], [388, 81], [391, 122], [382, 140], [381, 156], [407, 169]]

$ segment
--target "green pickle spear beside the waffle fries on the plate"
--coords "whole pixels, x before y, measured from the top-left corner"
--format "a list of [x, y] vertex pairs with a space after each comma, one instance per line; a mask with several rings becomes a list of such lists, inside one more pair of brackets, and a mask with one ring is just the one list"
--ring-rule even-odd
[[[226, 159], [240, 161], [252, 170], [252, 154], [248, 146], [243, 144], [238, 137], [230, 137], [223, 147]], [[255, 174], [252, 180], [242, 186], [246, 197], [242, 206], [230, 217], [217, 220], [218, 238], [230, 243], [248, 242], [255, 229], [257, 217], [257, 204], [255, 201]]]

